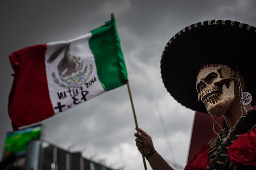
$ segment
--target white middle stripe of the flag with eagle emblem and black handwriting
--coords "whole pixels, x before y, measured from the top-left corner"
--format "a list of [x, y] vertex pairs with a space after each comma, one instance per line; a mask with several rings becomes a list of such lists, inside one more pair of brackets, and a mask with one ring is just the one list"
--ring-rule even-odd
[[105, 92], [98, 80], [95, 59], [89, 47], [91, 35], [47, 44], [47, 81], [55, 114]]

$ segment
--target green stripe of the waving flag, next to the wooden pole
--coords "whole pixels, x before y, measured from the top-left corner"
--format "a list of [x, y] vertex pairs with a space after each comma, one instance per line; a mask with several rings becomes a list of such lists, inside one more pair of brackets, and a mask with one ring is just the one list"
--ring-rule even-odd
[[128, 81], [126, 65], [117, 33], [114, 16], [105, 25], [90, 31], [90, 49], [94, 55], [98, 78], [109, 91]]

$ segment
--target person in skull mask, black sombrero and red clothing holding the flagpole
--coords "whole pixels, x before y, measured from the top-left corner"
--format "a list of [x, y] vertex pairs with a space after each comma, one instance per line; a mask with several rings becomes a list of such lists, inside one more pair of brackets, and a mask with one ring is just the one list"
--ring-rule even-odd
[[[187, 26], [167, 42], [160, 66], [167, 91], [183, 106], [222, 116], [226, 124], [188, 160], [185, 170], [256, 169], [255, 48], [255, 27], [217, 19]], [[151, 137], [137, 130], [136, 146], [150, 166], [172, 170]]]

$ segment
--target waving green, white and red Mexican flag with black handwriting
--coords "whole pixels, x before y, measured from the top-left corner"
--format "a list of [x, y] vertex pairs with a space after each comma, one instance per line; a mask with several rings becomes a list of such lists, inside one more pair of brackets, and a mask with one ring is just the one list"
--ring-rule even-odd
[[12, 127], [37, 123], [127, 83], [114, 16], [78, 38], [29, 46], [10, 56]]

